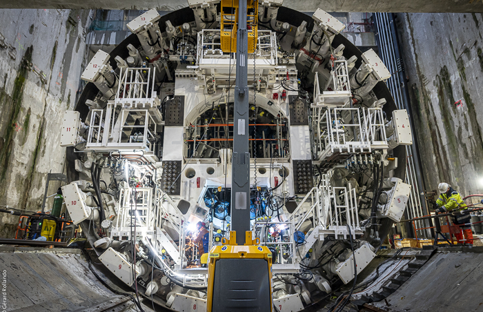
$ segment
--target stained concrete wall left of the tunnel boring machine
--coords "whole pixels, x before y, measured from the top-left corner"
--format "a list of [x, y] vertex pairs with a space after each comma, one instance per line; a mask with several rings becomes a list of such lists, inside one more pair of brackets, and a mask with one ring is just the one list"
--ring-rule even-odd
[[[0, 205], [39, 211], [47, 173], [65, 170], [60, 130], [75, 106], [89, 14], [0, 10]], [[0, 237], [17, 222], [1, 213]]]

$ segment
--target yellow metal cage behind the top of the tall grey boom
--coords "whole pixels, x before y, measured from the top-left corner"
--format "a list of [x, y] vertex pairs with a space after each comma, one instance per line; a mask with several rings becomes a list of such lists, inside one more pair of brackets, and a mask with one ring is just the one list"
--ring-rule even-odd
[[[246, 30], [248, 53], [255, 52], [258, 40], [258, 0], [247, 0]], [[221, 50], [237, 52], [238, 0], [221, 0]]]

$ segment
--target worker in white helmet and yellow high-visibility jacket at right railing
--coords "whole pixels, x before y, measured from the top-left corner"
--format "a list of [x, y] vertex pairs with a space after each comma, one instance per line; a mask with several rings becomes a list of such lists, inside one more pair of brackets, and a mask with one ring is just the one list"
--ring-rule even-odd
[[[455, 233], [458, 242], [464, 242], [466, 245], [473, 245], [473, 232], [471, 232], [471, 215], [465, 213], [468, 206], [464, 204], [460, 193], [453, 190], [451, 185], [447, 183], [440, 183], [437, 186], [440, 191], [440, 198], [437, 199], [436, 204], [438, 208], [435, 210], [438, 213], [451, 213], [453, 215], [453, 224], [461, 225], [463, 233]], [[463, 225], [464, 224], [464, 225]]]

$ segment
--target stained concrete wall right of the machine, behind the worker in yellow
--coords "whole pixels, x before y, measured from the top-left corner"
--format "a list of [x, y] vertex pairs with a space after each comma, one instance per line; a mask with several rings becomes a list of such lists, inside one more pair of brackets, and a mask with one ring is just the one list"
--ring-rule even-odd
[[483, 192], [482, 14], [397, 14], [426, 190]]

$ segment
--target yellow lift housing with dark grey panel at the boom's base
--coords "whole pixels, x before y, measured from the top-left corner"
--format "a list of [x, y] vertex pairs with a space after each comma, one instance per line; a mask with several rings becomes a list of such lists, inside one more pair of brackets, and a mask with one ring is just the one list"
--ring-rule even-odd
[[255, 246], [252, 232], [237, 246], [236, 233], [229, 242], [214, 246], [208, 261], [208, 312], [272, 311], [272, 253]]

